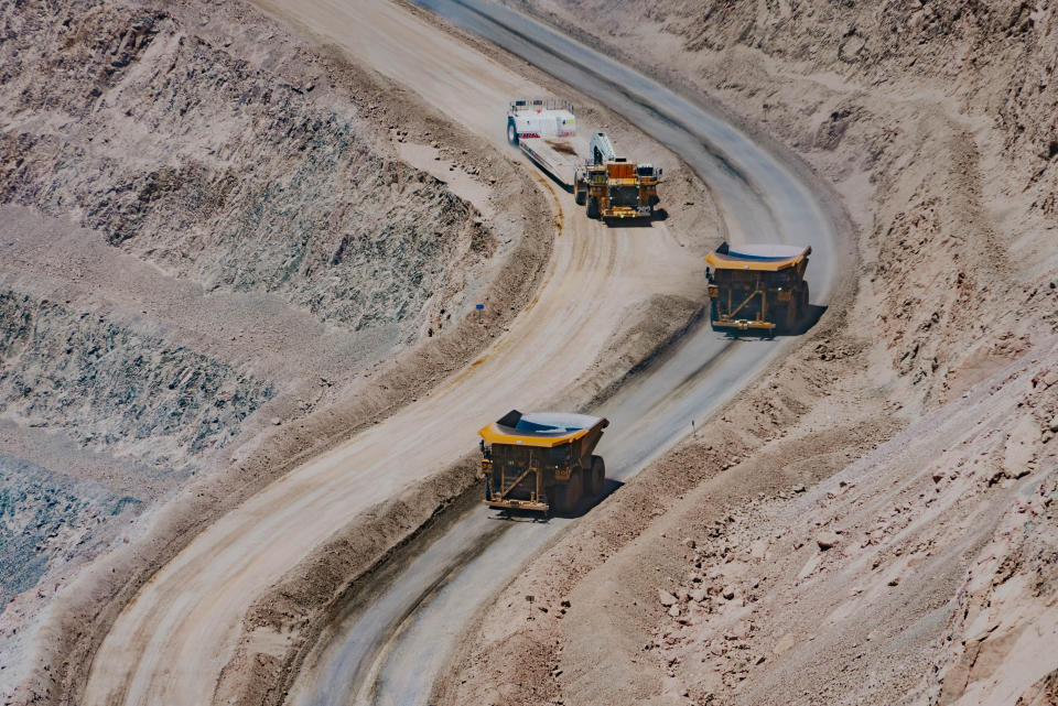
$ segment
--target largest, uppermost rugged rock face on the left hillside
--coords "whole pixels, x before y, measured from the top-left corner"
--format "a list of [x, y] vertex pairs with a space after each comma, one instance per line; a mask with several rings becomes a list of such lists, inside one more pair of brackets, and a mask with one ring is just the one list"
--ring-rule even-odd
[[377, 128], [164, 11], [4, 15], [0, 203], [69, 216], [206, 290], [277, 292], [393, 341], [446, 263], [494, 250], [473, 207], [381, 153]]

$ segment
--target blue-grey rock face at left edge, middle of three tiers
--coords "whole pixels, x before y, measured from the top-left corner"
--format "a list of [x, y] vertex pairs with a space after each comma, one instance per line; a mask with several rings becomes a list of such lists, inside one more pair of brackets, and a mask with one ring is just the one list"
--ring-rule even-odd
[[274, 394], [269, 382], [186, 347], [0, 292], [0, 416], [9, 420], [183, 477]]

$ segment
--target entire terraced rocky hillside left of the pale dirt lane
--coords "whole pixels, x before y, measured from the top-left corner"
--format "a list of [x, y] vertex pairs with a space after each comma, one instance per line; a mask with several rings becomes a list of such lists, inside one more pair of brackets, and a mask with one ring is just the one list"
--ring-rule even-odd
[[[21, 3], [2, 20], [0, 460], [18, 541], [0, 681], [56, 702], [203, 526], [487, 345], [536, 289], [551, 217], [508, 159], [241, 7]], [[398, 158], [414, 142], [473, 203]]]

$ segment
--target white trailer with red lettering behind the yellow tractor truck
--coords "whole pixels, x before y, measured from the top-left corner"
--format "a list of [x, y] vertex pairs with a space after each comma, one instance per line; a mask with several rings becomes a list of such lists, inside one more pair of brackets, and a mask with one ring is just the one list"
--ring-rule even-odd
[[555, 98], [511, 100], [507, 141], [566, 188], [573, 188], [576, 166], [587, 154], [587, 141], [576, 134], [573, 106]]

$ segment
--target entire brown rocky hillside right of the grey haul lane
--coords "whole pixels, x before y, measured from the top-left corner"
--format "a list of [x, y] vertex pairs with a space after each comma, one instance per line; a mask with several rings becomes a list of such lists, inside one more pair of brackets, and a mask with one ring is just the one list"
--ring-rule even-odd
[[1056, 10], [533, 9], [602, 45], [605, 11], [609, 52], [799, 152], [864, 267], [842, 321], [533, 560], [441, 700], [1052, 699]]

